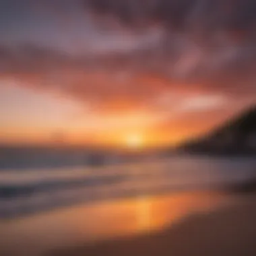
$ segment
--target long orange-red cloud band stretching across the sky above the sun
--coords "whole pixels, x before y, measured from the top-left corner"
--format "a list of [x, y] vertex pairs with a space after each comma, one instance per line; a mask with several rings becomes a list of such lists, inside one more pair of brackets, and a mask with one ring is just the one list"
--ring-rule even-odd
[[[249, 65], [249, 57], [244, 55], [237, 57], [237, 63], [228, 59], [230, 66], [223, 64], [222, 67], [214, 61], [212, 66], [207, 66], [204, 57], [187, 54], [177, 65], [169, 65], [174, 71], [170, 74], [164, 70], [165, 64], [158, 63], [150, 53], [151, 50], [90, 58], [71, 57], [35, 46], [2, 47], [0, 75], [36, 90], [60, 93], [80, 102], [90, 100], [100, 109], [105, 108], [106, 112], [145, 108], [152, 104], [151, 99], [162, 94], [166, 94], [165, 101], [168, 102], [172, 101], [168, 95], [176, 93], [184, 98], [195, 92], [240, 98], [255, 92], [253, 69], [250, 71], [247, 67], [253, 67], [254, 63], [252, 60]], [[200, 67], [203, 63], [204, 66]], [[179, 67], [181, 73], [182, 69], [190, 69], [190, 73], [175, 76], [175, 67]], [[200, 68], [201, 73], [197, 75]], [[236, 73], [233, 74], [234, 70]], [[249, 74], [248, 81], [243, 84], [245, 79], [242, 77], [246, 74]]]

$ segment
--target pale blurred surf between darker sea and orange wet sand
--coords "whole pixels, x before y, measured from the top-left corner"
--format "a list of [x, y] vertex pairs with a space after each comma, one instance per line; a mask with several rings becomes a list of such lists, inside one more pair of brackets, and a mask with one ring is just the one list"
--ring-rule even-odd
[[0, 169], [0, 217], [75, 203], [214, 189], [252, 179], [255, 158], [172, 156], [134, 163]]

